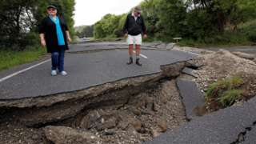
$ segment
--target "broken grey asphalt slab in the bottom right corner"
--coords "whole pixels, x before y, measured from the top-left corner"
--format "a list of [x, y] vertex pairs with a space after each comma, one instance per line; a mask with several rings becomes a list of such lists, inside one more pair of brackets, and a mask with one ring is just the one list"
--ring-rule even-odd
[[[256, 98], [251, 99], [242, 106], [231, 106], [212, 114], [197, 118], [180, 126], [178, 130], [168, 131], [151, 142], [144, 144], [217, 144], [236, 143], [238, 135], [244, 133], [246, 128], [251, 130], [245, 134], [243, 143], [254, 144], [256, 122]], [[237, 143], [242, 143], [237, 142]]]

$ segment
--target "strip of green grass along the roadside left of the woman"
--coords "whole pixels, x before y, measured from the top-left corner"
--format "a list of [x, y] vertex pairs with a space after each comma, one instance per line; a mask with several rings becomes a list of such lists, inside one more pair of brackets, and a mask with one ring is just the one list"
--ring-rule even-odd
[[46, 48], [30, 48], [24, 51], [0, 50], [0, 71], [33, 62], [46, 54]]

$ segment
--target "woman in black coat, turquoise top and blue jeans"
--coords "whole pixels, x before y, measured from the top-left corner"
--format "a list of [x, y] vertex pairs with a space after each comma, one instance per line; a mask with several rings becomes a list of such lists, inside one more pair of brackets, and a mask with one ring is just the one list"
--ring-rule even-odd
[[42, 46], [46, 46], [51, 53], [51, 75], [58, 72], [66, 75], [64, 70], [65, 50], [68, 50], [68, 42], [71, 42], [70, 33], [63, 18], [58, 17], [56, 6], [47, 6], [48, 16], [42, 20], [39, 26], [39, 34]]

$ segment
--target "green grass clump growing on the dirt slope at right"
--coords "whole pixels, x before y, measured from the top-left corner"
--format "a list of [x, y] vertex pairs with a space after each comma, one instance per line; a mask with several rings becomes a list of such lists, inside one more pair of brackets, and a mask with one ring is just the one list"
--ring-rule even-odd
[[206, 91], [206, 105], [211, 110], [233, 105], [242, 98], [243, 90], [240, 89], [242, 84], [242, 78], [238, 77], [225, 78], [212, 83]]

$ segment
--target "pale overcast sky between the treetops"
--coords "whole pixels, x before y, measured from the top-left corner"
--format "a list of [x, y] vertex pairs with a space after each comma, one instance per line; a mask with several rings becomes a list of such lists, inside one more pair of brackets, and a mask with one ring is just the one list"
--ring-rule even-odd
[[75, 0], [75, 26], [92, 25], [105, 14], [127, 13], [143, 0]]

